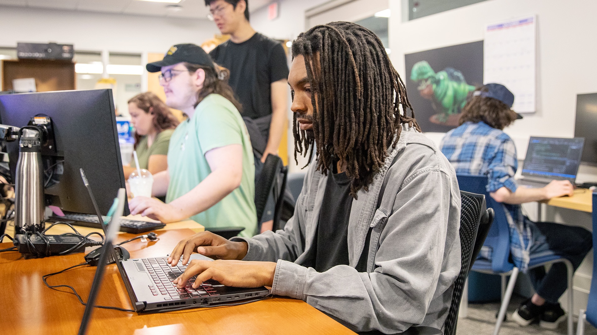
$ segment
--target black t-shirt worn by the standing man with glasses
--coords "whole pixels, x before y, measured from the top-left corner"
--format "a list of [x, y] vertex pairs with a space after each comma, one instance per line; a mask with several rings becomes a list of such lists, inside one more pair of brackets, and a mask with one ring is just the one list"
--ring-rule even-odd
[[228, 83], [251, 119], [272, 114], [271, 84], [288, 78], [286, 52], [280, 42], [255, 33], [245, 42], [230, 40], [216, 46], [211, 58], [230, 70]]

